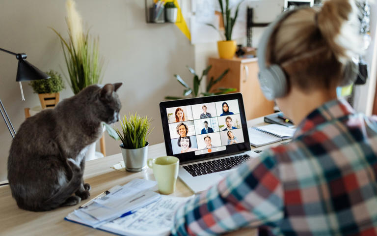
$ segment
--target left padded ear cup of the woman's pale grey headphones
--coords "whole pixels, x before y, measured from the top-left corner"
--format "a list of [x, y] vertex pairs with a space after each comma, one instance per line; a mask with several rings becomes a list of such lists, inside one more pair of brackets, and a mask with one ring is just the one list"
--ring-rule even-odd
[[261, 90], [268, 100], [287, 94], [287, 78], [279, 65], [273, 64], [259, 72]]

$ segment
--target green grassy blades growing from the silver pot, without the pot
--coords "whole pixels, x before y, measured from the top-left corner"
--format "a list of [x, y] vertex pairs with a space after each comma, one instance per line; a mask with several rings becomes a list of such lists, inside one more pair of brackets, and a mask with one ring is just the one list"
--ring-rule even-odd
[[150, 130], [152, 119], [148, 117], [140, 117], [135, 113], [135, 115], [129, 114], [127, 118], [124, 115], [123, 120], [120, 120], [122, 130], [116, 129], [120, 140], [123, 143], [123, 148], [143, 148], [147, 142], [149, 134], [154, 128]]

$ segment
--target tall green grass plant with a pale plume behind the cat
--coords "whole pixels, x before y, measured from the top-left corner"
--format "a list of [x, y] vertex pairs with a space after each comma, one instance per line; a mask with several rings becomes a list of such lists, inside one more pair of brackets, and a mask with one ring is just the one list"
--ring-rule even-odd
[[89, 29], [86, 33], [83, 32], [81, 16], [73, 0], [67, 0], [67, 14], [68, 40], [54, 28], [51, 29], [60, 38], [69, 74], [68, 81], [73, 93], [77, 94], [89, 85], [101, 83], [103, 61], [100, 62], [99, 59], [99, 39], [97, 37], [91, 40]]

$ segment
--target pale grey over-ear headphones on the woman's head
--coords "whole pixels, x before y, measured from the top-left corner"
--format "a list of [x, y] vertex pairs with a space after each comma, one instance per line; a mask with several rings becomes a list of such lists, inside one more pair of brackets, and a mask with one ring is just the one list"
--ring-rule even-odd
[[[269, 66], [266, 66], [266, 49], [269, 44], [269, 39], [276, 25], [295, 11], [296, 10], [285, 11], [282, 14], [280, 14], [265, 29], [259, 41], [257, 50], [259, 65], [259, 83], [261, 85], [263, 94], [269, 100], [285, 96], [288, 92], [288, 86], [284, 70], [281, 68], [280, 65], [271, 64]], [[350, 62], [344, 68], [344, 78], [341, 81], [340, 86], [352, 84], [357, 78], [358, 71], [358, 63], [354, 60], [350, 60]]]

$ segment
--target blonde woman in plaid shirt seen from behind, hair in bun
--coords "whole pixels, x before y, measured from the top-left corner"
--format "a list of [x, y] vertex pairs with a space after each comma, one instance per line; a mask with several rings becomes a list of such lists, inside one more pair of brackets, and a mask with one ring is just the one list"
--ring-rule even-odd
[[358, 8], [353, 0], [326, 0], [274, 24], [261, 37], [258, 63], [260, 72], [264, 62], [281, 69], [281, 81], [271, 76], [269, 84], [286, 89], [264, 93], [295, 120], [296, 133], [180, 207], [172, 235], [263, 226], [266, 235], [375, 236], [377, 117], [336, 95], [355, 79], [345, 69], [362, 48]]

